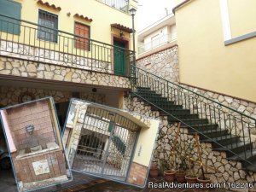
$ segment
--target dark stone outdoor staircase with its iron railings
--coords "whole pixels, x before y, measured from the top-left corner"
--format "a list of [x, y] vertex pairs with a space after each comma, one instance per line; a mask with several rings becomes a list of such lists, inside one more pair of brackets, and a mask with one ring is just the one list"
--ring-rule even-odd
[[227, 160], [241, 161], [245, 171], [256, 172], [256, 149], [250, 134], [256, 119], [143, 69], [134, 69], [133, 96], [167, 116], [169, 123], [181, 122], [189, 134], [198, 133], [201, 143], [212, 143], [212, 150], [224, 151]]

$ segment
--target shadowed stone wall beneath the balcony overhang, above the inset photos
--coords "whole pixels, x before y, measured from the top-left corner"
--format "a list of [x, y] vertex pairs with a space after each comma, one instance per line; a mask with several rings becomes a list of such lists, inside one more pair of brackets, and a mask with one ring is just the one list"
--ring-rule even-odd
[[[33, 99], [44, 98], [46, 96], [52, 96], [55, 102], [68, 102], [72, 97], [72, 92], [70, 91], [60, 91], [60, 90], [44, 90], [37, 88], [27, 88], [27, 87], [11, 87], [11, 86], [0, 86], [0, 105], [1, 107], [6, 107], [9, 105], [14, 105], [20, 103], [20, 97], [23, 95], [32, 95]], [[90, 102], [97, 102], [101, 104], [106, 103], [106, 95], [98, 93], [86, 93], [81, 92], [80, 97], [84, 100]]]

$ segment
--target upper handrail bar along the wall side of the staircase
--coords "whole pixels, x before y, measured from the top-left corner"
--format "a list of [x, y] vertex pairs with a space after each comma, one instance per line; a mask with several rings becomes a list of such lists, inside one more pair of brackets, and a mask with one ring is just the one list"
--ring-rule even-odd
[[245, 114], [245, 113], [241, 113], [241, 112], [239, 112], [239, 111], [236, 111], [236, 109], [234, 109], [234, 108], [230, 108], [230, 107], [228, 107], [228, 106], [225, 106], [224, 104], [222, 104], [222, 103], [220, 103], [220, 102], [216, 102], [216, 101], [212, 100], [211, 98], [207, 98], [206, 96], [203, 96], [203, 95], [201, 95], [201, 94], [199, 94], [199, 93], [196, 93], [196, 92], [193, 91], [193, 90], [189, 90], [189, 89], [187, 89], [187, 88], [185, 88], [185, 87], [183, 87], [183, 86], [181, 86], [181, 85], [179, 85], [179, 84], [175, 84], [175, 83], [173, 83], [173, 82], [171, 82], [171, 81], [168, 81], [168, 80], [166, 80], [166, 79], [163, 79], [163, 78], [161, 78], [161, 77], [159, 77], [159, 76], [157, 76], [157, 75], [155, 75], [155, 74], [153, 74], [153, 73], [149, 73], [148, 71], [146, 71], [146, 70], [144, 70], [144, 69], [142, 69], [142, 68], [140, 68], [140, 67], [136, 67], [136, 66], [133, 66], [133, 67], [135, 67], [135, 68], [137, 68], [137, 69], [139, 69], [139, 70], [141, 70], [141, 71], [143, 71], [143, 72], [145, 72], [145, 73], [148, 73], [148, 74], [154, 76], [154, 77], [157, 78], [157, 79], [162, 79], [162, 80], [168, 82], [168, 84], [174, 84], [175, 86], [177, 86], [177, 87], [179, 87], [179, 88], [181, 88], [181, 89], [183, 89], [183, 90], [187, 90], [187, 91], [189, 91], [190, 93], [193, 93], [193, 94], [195, 94], [195, 95], [197, 95], [197, 96], [201, 96], [202, 98], [207, 99], [208, 101], [214, 102], [214, 103], [218, 104], [219, 106], [222, 106], [222, 107], [224, 107], [224, 108], [228, 108], [228, 109], [230, 109], [231, 111], [233, 111], [233, 112], [235, 112], [235, 113], [239, 113], [239, 114], [241, 114], [242, 116], [245, 116], [245, 117], [247, 117], [247, 118], [249, 118], [249, 119], [253, 119], [254, 121], [256, 121], [256, 119], [254, 119], [253, 117], [250, 117], [250, 116], [248, 116], [248, 115]]

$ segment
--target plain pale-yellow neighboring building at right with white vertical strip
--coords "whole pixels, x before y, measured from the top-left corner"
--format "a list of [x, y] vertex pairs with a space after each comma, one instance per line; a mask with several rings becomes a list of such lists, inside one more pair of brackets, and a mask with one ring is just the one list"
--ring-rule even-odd
[[195, 0], [174, 9], [182, 84], [256, 102], [255, 6]]

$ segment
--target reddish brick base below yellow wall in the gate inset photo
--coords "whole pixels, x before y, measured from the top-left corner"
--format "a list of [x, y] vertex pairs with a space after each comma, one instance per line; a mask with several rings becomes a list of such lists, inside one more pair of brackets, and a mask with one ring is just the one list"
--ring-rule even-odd
[[148, 167], [142, 166], [137, 163], [131, 164], [131, 171], [129, 177], [127, 179], [128, 183], [137, 184], [137, 185], [144, 185], [145, 179], [147, 178], [148, 174]]

